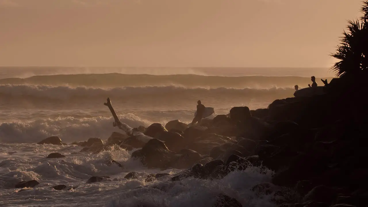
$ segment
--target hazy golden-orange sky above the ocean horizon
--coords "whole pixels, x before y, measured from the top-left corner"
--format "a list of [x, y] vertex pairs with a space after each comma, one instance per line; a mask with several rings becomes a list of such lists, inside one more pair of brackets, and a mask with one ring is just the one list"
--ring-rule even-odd
[[329, 67], [361, 0], [0, 0], [0, 66]]

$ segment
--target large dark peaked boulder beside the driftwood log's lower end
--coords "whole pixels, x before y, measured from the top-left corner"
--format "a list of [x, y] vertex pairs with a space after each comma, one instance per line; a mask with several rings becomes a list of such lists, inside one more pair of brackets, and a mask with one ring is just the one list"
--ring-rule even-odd
[[133, 152], [132, 157], [141, 159], [142, 164], [148, 168], [166, 169], [169, 167], [174, 153], [167, 149], [166, 145], [158, 140], [149, 140], [139, 152]]

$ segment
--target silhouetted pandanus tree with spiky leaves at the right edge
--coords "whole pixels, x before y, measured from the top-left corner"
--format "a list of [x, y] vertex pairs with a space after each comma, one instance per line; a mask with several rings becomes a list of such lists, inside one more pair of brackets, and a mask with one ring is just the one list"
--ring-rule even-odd
[[332, 67], [337, 76], [368, 74], [368, 1], [363, 1], [361, 12], [360, 19], [348, 21], [347, 31], [331, 55], [340, 60]]

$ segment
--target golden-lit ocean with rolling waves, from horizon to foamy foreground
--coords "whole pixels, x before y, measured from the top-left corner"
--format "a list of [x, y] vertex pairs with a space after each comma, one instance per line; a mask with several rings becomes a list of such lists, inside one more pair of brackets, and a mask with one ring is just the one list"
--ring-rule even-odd
[[[275, 99], [293, 97], [294, 85], [308, 87], [310, 76], [331, 80], [326, 68], [111, 68], [0, 67], [0, 206], [213, 206], [223, 193], [243, 206], [275, 206], [272, 194], [259, 196], [251, 188], [270, 182], [272, 172], [256, 167], [234, 171], [220, 180], [187, 178], [171, 182], [124, 179], [146, 169], [130, 159], [133, 151], [80, 152], [77, 145], [38, 145], [49, 136], [64, 143], [114, 132], [113, 118], [103, 105], [112, 100], [120, 119], [131, 127], [165, 125], [179, 119], [190, 123], [197, 101], [227, 114], [233, 106], [267, 108]], [[52, 152], [63, 159], [46, 159]], [[107, 166], [112, 157], [124, 165]], [[110, 176], [111, 182], [85, 184], [91, 176]], [[21, 180], [39, 180], [33, 189], [15, 189]], [[79, 186], [54, 190], [51, 186]], [[159, 187], [158, 187], [159, 186]]]

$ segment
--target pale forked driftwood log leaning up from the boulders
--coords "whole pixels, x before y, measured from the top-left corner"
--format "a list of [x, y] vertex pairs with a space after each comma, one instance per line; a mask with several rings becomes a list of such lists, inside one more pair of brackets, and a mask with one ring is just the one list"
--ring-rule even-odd
[[113, 106], [111, 105], [111, 100], [110, 98], [107, 98], [107, 103], [103, 103], [105, 106], [109, 107], [110, 112], [112, 113], [115, 122], [113, 123], [113, 126], [117, 126], [119, 129], [125, 131], [125, 133], [128, 134], [128, 136], [135, 136], [138, 140], [141, 140], [144, 143], [147, 143], [149, 140], [153, 139], [153, 137], [150, 136], [146, 136], [145, 134], [142, 133], [142, 131], [140, 131], [137, 128], [132, 128], [130, 126], [128, 126], [128, 124], [125, 124], [123, 122], [120, 121], [119, 117], [117, 117], [116, 112], [113, 108]]

